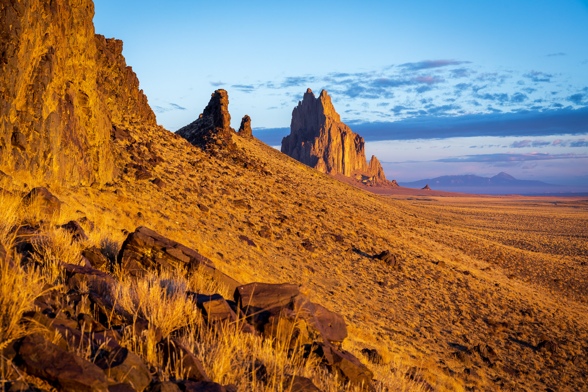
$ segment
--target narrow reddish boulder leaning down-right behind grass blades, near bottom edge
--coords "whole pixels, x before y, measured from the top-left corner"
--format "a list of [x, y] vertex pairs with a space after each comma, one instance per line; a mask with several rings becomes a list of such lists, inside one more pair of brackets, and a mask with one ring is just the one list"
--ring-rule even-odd
[[172, 371], [181, 373], [182, 377], [188, 380], [211, 381], [202, 363], [179, 341], [168, 338], [161, 341], [158, 346], [163, 356], [163, 367], [169, 366]]

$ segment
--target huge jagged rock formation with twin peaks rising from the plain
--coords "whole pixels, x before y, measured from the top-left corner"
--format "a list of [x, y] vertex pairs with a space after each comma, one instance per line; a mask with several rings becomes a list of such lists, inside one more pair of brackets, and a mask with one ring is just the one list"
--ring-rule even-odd
[[282, 139], [282, 152], [329, 175], [355, 176], [365, 185], [388, 185], [382, 165], [375, 156], [368, 165], [365, 142], [341, 122], [325, 90], [315, 98], [307, 89], [292, 110], [290, 135]]

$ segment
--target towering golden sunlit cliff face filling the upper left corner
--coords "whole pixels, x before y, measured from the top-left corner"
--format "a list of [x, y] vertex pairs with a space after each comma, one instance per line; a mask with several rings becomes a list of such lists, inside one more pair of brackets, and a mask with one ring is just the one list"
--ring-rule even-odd
[[112, 126], [155, 126], [122, 41], [94, 34], [91, 0], [0, 0], [0, 156], [46, 182], [116, 175]]

